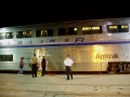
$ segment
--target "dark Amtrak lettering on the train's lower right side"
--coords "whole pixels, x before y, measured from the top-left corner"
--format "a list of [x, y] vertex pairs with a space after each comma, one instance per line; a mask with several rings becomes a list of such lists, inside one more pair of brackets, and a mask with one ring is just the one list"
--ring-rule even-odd
[[95, 58], [106, 59], [106, 58], [119, 58], [118, 54], [96, 54]]

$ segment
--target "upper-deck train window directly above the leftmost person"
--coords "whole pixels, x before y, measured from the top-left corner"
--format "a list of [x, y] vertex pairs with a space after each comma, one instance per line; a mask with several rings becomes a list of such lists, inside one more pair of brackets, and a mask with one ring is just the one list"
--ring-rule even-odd
[[32, 37], [32, 31], [17, 31], [16, 38], [31, 38]]

